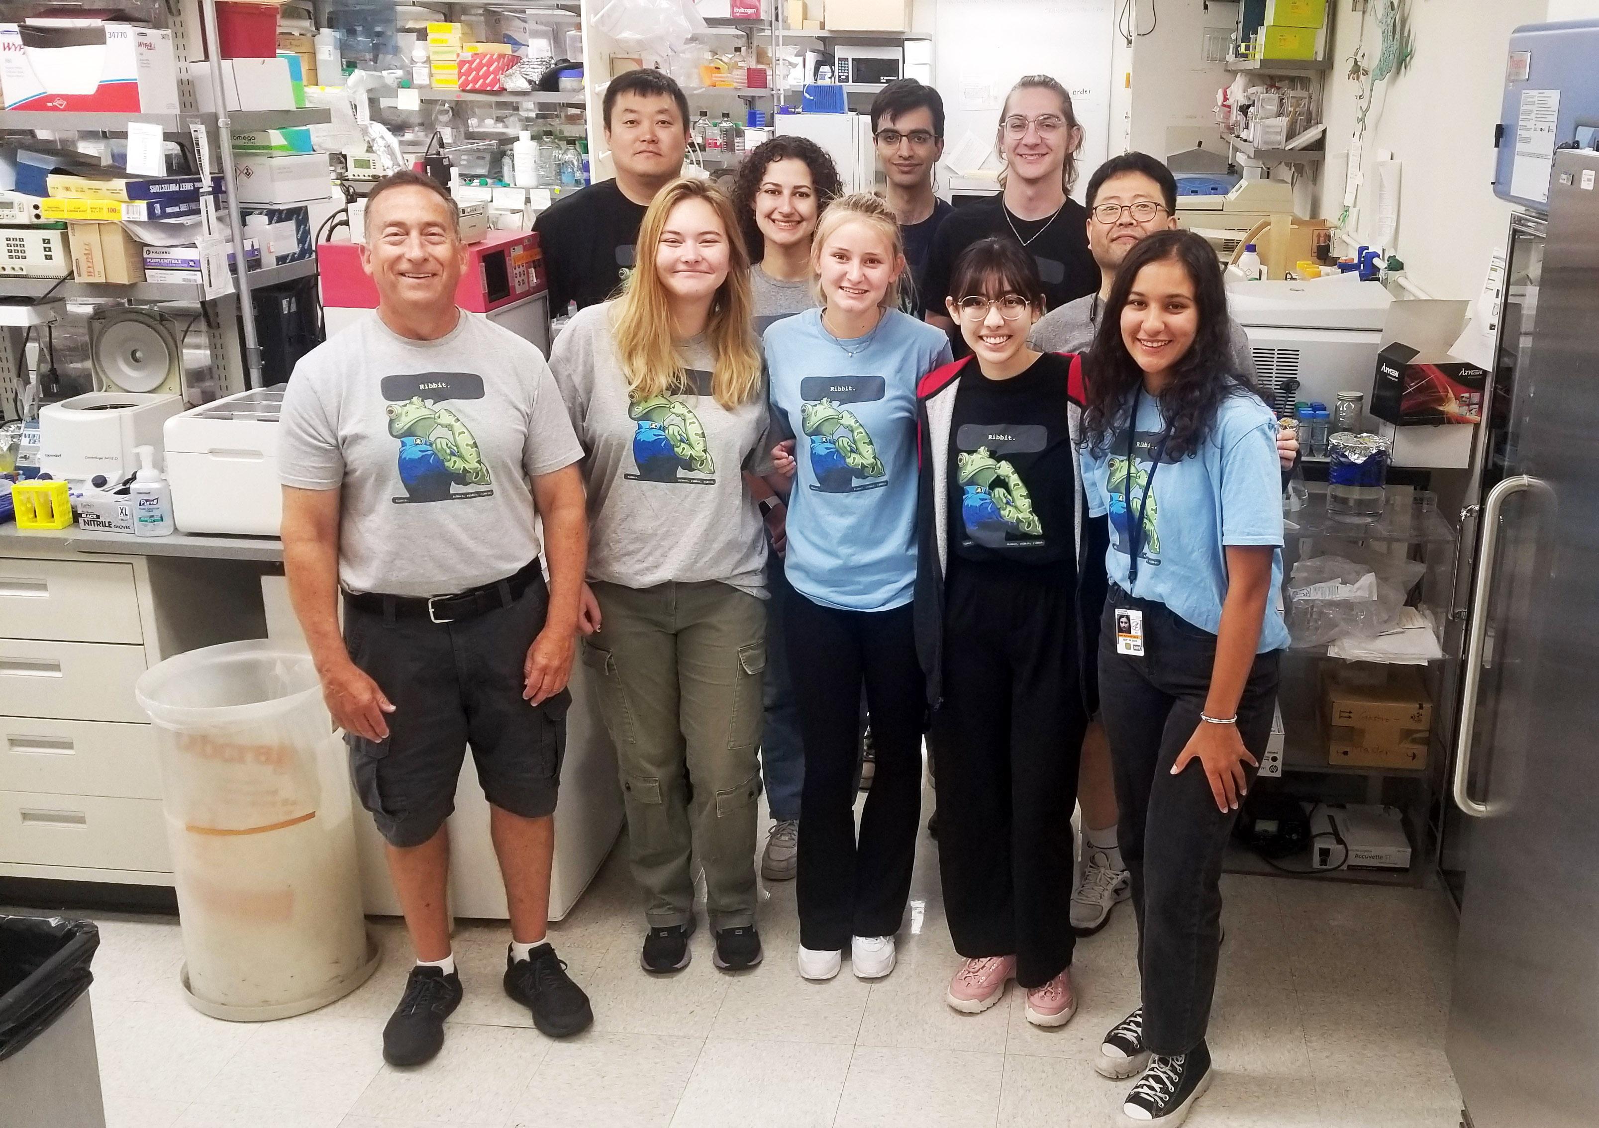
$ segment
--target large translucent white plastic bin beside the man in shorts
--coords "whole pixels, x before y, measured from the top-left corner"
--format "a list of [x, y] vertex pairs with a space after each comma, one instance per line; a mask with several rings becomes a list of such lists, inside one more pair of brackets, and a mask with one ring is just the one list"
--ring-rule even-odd
[[189, 1002], [302, 1015], [376, 970], [344, 745], [305, 653], [267, 639], [179, 653], [134, 693], [160, 733]]

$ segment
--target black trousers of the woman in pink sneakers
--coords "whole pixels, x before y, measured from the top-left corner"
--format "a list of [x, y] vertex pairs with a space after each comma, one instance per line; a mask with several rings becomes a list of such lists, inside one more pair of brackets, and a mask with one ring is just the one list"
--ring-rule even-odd
[[[1071, 965], [1071, 808], [1087, 716], [1076, 585], [953, 559], [945, 585], [939, 874], [955, 951], [1015, 955], [1041, 987]], [[873, 714], [876, 719], [876, 714]]]

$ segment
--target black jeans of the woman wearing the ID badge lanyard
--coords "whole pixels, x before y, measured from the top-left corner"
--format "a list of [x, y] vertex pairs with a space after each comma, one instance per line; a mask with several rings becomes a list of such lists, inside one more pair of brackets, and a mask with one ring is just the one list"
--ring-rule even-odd
[[[1143, 612], [1142, 658], [1116, 653], [1115, 614]], [[1255, 655], [1238, 703], [1238, 735], [1258, 761], [1271, 737], [1279, 652]], [[1222, 853], [1236, 812], [1217, 808], [1198, 762], [1172, 765], [1201, 724], [1215, 636], [1164, 604], [1111, 586], [1100, 625], [1100, 709], [1121, 807], [1118, 840], [1132, 871], [1143, 983], [1143, 1043], [1159, 1055], [1204, 1040], [1222, 944]], [[1249, 781], [1255, 769], [1247, 770]]]

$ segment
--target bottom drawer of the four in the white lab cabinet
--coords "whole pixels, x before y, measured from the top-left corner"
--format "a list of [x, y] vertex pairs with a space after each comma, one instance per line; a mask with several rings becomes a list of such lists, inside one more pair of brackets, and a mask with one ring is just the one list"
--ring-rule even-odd
[[157, 799], [0, 791], [0, 860], [171, 872]]

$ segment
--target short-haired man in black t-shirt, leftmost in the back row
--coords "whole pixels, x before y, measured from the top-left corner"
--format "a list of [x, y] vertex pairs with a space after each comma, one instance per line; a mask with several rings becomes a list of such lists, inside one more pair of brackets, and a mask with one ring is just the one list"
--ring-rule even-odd
[[616, 179], [561, 198], [534, 222], [550, 276], [550, 316], [598, 305], [633, 268], [644, 209], [683, 173], [689, 102], [659, 70], [628, 70], [604, 91], [604, 139]]

